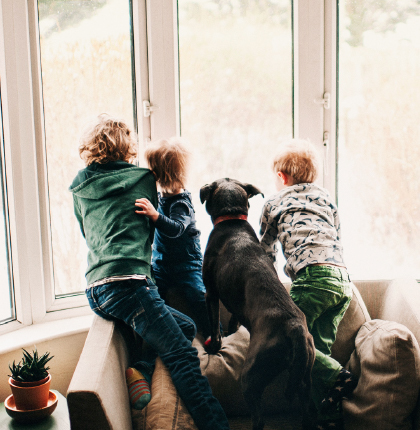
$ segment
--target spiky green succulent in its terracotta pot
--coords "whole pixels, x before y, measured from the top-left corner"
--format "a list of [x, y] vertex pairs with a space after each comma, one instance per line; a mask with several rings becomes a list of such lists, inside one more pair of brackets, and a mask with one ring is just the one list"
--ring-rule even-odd
[[52, 358], [49, 352], [39, 356], [36, 348], [32, 354], [23, 349], [22, 360], [18, 364], [14, 361], [9, 364], [9, 385], [18, 409], [34, 410], [47, 406], [51, 375], [46, 364]]

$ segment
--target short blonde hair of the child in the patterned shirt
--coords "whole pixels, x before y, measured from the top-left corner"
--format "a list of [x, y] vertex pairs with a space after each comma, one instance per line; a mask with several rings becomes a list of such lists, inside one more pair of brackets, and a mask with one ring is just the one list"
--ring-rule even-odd
[[284, 143], [274, 157], [273, 170], [290, 175], [295, 184], [314, 182], [319, 173], [320, 160], [314, 145], [305, 139], [291, 139]]

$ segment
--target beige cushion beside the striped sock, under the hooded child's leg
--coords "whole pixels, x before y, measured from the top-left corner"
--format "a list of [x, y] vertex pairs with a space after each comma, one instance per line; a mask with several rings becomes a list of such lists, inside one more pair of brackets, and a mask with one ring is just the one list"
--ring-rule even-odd
[[159, 357], [152, 376], [151, 393], [152, 399], [143, 410], [132, 409], [133, 430], [197, 430]]

